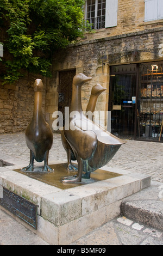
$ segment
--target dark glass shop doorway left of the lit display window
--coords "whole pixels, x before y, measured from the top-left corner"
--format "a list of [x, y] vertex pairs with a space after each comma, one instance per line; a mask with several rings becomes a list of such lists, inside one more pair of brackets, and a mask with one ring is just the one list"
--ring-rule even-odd
[[136, 64], [111, 67], [109, 111], [115, 136], [134, 138], [136, 81]]

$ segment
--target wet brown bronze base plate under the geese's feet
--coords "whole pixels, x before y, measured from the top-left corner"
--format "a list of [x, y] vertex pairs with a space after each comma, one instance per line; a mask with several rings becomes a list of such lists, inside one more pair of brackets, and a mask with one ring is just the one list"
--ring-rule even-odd
[[[74, 164], [75, 165], [75, 164]], [[51, 165], [51, 168], [53, 168], [54, 172], [41, 172], [42, 167], [35, 167], [33, 172], [22, 172], [21, 169], [16, 169], [16, 172], [22, 173], [24, 175], [29, 176], [30, 178], [42, 181], [46, 184], [61, 188], [62, 190], [66, 190], [67, 188], [71, 187], [77, 187], [82, 186], [84, 184], [93, 183], [100, 180], [106, 180], [111, 179], [117, 176], [121, 176], [121, 174], [108, 172], [106, 170], [97, 169], [95, 172], [92, 173], [90, 179], [82, 179], [79, 183], [63, 183], [62, 179], [65, 176], [72, 176], [72, 179], [74, 178], [73, 175], [77, 175], [76, 171], [70, 171], [67, 172], [67, 163], [58, 163]]]

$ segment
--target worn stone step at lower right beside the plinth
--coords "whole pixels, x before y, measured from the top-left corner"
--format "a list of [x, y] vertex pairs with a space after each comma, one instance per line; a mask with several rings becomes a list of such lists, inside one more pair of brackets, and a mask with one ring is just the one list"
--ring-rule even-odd
[[121, 203], [121, 216], [163, 230], [163, 198], [160, 193], [163, 185], [161, 184], [158, 183], [150, 190], [146, 188], [124, 199]]

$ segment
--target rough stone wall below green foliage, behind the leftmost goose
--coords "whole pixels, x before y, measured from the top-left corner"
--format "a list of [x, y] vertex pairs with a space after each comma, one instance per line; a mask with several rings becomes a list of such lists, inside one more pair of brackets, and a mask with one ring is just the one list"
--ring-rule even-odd
[[[0, 134], [15, 133], [26, 130], [32, 119], [34, 106], [35, 78], [19, 80], [15, 84], [0, 84]], [[42, 109], [45, 113], [45, 89], [43, 92]]]

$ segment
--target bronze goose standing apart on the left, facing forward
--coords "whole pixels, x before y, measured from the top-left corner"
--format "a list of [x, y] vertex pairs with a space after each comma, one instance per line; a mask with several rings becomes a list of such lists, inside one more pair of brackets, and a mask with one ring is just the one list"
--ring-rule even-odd
[[27, 167], [22, 169], [23, 171], [32, 172], [34, 170], [34, 160], [37, 162], [44, 161], [42, 171], [53, 171], [53, 169], [48, 166], [49, 150], [52, 148], [53, 144], [53, 132], [43, 118], [42, 91], [43, 83], [40, 79], [36, 79], [34, 83], [33, 117], [25, 133], [27, 147], [30, 149], [30, 163]]

